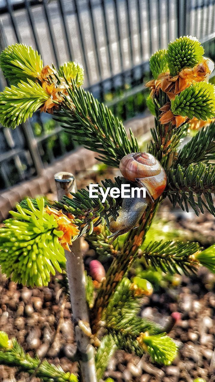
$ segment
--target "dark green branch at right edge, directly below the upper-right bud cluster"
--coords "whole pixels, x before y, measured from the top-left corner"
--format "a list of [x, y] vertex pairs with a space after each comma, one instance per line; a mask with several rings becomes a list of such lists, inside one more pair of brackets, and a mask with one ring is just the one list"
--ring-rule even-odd
[[178, 152], [177, 164], [188, 167], [191, 163], [210, 163], [215, 160], [215, 122], [200, 129]]

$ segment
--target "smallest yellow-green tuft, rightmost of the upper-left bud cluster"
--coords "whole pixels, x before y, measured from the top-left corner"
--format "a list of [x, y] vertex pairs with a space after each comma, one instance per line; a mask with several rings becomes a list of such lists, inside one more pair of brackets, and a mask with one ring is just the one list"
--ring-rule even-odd
[[74, 79], [78, 86], [83, 85], [84, 82], [84, 69], [83, 66], [76, 62], [65, 62], [60, 66], [58, 74], [60, 77], [65, 77], [69, 83]]

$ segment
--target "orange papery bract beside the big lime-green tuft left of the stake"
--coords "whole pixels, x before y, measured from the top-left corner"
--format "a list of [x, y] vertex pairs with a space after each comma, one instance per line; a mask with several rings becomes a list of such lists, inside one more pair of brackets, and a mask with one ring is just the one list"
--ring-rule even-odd
[[80, 232], [78, 226], [75, 225], [75, 223], [71, 220], [74, 219], [74, 215], [69, 214], [69, 218], [62, 212], [62, 210], [58, 211], [54, 208], [50, 208], [49, 206], [46, 206], [46, 212], [49, 215], [53, 215], [57, 220], [59, 231], [64, 232], [63, 235], [59, 238], [60, 244], [64, 249], [67, 249], [67, 251], [71, 252], [69, 245], [72, 244], [72, 239], [74, 236], [78, 235]]

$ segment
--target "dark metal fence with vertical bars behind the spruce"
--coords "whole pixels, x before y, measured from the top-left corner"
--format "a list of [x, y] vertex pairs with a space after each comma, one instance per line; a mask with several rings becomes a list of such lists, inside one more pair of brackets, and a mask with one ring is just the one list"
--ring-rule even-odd
[[[122, 119], [144, 111], [150, 55], [184, 34], [215, 58], [215, 0], [0, 0], [0, 49], [18, 41], [37, 49], [45, 65], [81, 63], [85, 88]], [[74, 148], [49, 115], [36, 113], [14, 131], [0, 126], [0, 189]]]

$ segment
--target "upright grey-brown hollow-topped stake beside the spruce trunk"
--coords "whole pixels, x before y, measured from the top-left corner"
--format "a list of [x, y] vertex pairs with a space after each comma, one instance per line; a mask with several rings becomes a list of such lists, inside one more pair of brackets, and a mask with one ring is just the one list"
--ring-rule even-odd
[[[58, 200], [62, 196], [76, 191], [75, 177], [71, 173], [55, 174]], [[86, 303], [86, 282], [84, 274], [83, 253], [80, 238], [73, 242], [71, 252], [65, 251], [67, 259], [67, 277], [73, 313], [73, 322], [77, 347], [80, 353], [80, 371], [83, 382], [97, 382], [94, 362], [94, 348], [90, 344], [90, 320]], [[80, 327], [81, 326], [81, 327]], [[86, 331], [83, 331], [86, 327]]]

